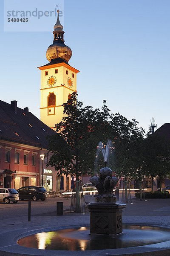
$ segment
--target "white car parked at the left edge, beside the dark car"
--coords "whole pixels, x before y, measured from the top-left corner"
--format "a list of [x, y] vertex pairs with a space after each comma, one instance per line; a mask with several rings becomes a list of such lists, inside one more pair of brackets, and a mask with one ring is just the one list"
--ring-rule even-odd
[[19, 194], [16, 189], [3, 188], [0, 189], [0, 202], [9, 204], [10, 201], [17, 203], [19, 200]]

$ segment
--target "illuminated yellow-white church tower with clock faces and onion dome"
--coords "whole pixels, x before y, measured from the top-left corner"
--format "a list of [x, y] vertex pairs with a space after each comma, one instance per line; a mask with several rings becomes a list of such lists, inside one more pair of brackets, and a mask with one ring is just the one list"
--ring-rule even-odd
[[41, 103], [40, 119], [50, 128], [63, 117], [62, 104], [68, 101], [69, 95], [77, 90], [77, 73], [79, 70], [68, 64], [71, 49], [64, 43], [63, 26], [59, 21], [54, 26], [54, 41], [46, 52], [48, 64], [39, 67], [41, 70]]

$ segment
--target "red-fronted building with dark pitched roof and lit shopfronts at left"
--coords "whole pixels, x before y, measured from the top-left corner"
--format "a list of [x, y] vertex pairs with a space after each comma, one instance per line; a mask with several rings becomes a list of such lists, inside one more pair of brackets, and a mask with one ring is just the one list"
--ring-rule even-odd
[[[18, 108], [17, 101], [0, 101], [0, 188], [41, 186], [42, 177], [47, 191], [60, 188], [61, 178], [46, 166], [47, 157], [40, 159], [48, 147], [47, 136], [54, 134], [27, 107]], [[64, 189], [69, 188], [71, 180], [63, 178]]]

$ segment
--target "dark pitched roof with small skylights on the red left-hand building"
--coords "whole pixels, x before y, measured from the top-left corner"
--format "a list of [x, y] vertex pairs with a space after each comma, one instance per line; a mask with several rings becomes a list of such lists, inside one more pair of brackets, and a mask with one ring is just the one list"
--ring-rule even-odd
[[15, 108], [0, 100], [0, 139], [47, 148], [47, 136], [56, 132], [29, 112], [28, 108], [17, 108], [17, 102], [13, 103]]

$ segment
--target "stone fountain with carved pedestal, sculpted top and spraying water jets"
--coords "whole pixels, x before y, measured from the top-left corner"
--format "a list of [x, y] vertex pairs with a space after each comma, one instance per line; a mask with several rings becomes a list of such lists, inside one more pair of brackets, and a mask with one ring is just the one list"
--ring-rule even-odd
[[91, 234], [118, 235], [122, 233], [122, 211], [126, 205], [116, 202], [116, 196], [113, 194], [113, 187], [116, 186], [118, 178], [113, 177], [112, 170], [106, 167], [110, 147], [111, 141], [108, 141], [105, 147], [101, 142], [99, 143], [105, 167], [99, 171], [99, 177], [90, 178], [90, 182], [99, 193], [95, 198], [96, 202], [88, 204]]

